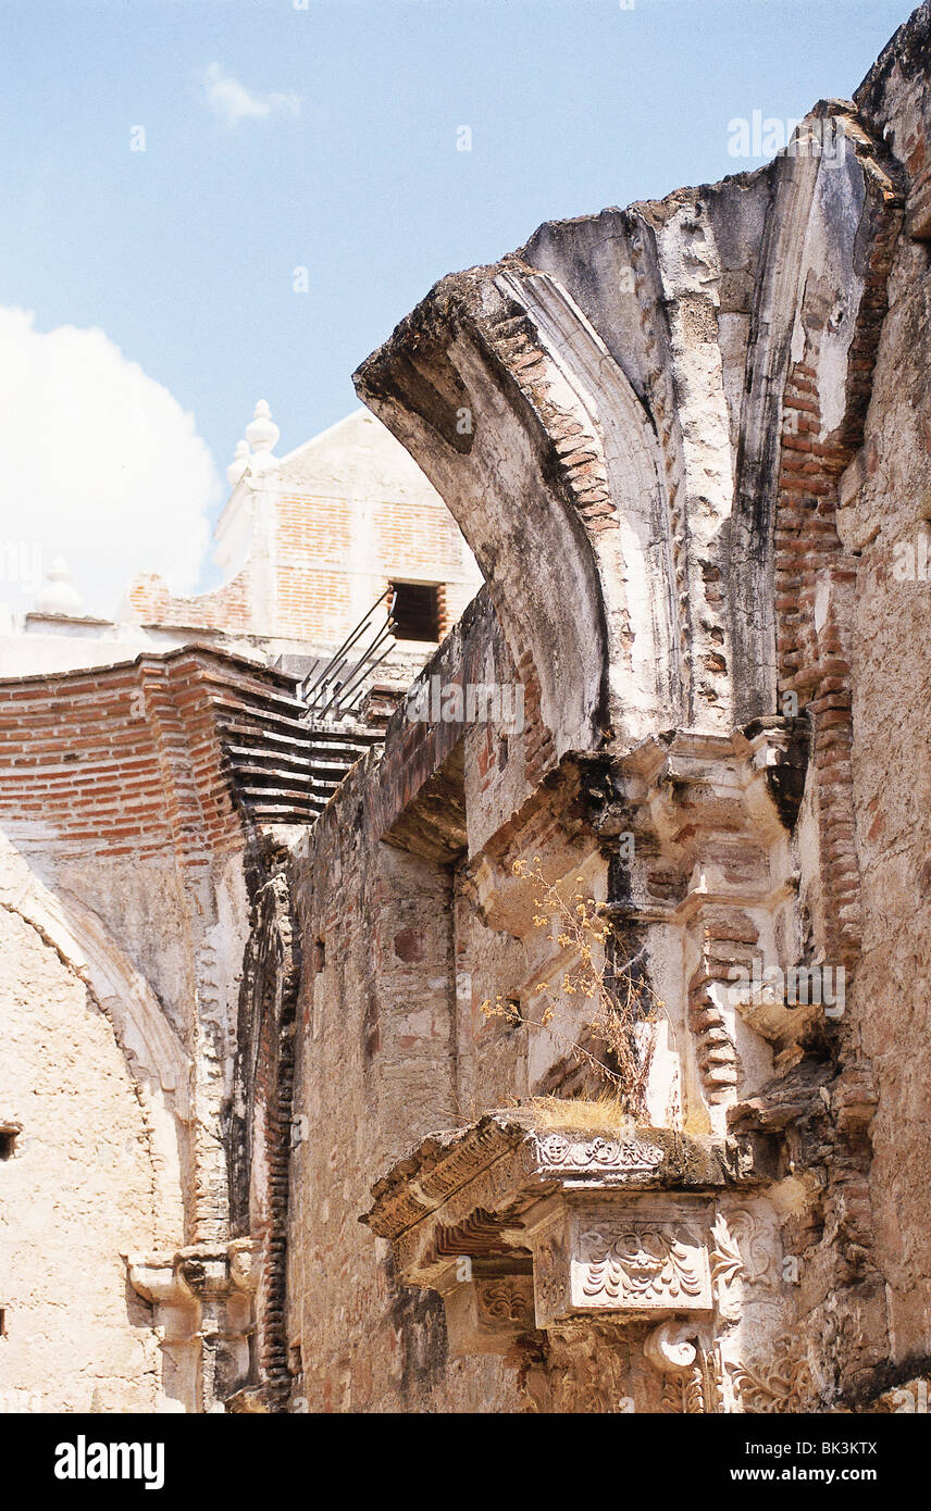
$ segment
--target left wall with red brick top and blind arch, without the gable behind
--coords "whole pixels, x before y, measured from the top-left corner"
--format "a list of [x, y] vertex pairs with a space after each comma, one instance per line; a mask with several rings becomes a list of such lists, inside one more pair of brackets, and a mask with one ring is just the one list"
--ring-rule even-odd
[[[3, 1162], [0, 1307], [20, 1340], [5, 1355], [12, 1384], [62, 1408], [201, 1410], [249, 1375], [234, 1061], [249, 908], [269, 878], [222, 718], [248, 743], [283, 688], [293, 694], [280, 674], [196, 653], [0, 688], [0, 1123], [23, 1124]], [[260, 996], [274, 1003], [280, 956], [272, 975]], [[261, 1210], [255, 1228], [266, 1262]], [[42, 1351], [65, 1296], [56, 1375]]]

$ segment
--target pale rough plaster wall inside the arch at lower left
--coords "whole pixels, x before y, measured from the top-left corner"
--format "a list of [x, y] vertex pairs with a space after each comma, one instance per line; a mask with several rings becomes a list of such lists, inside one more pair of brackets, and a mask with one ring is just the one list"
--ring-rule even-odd
[[0, 908], [0, 1408], [153, 1411], [160, 1360], [121, 1256], [159, 1239], [153, 1130], [85, 981]]

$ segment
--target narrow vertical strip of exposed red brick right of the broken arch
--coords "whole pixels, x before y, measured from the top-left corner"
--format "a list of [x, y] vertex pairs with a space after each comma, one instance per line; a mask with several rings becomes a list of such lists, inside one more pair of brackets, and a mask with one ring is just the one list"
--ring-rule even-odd
[[[901, 227], [898, 202], [874, 187], [874, 240], [858, 325], [848, 357], [849, 403], [843, 425], [819, 440], [818, 317], [807, 311], [807, 349], [789, 369], [783, 396], [781, 456], [775, 517], [775, 610], [778, 695], [798, 694], [812, 724], [812, 762], [827, 905], [825, 953], [851, 966], [860, 949], [860, 870], [851, 768], [851, 604], [855, 559], [837, 535], [840, 473], [861, 444], [887, 280]], [[828, 612], [815, 626], [818, 586], [830, 585]]]

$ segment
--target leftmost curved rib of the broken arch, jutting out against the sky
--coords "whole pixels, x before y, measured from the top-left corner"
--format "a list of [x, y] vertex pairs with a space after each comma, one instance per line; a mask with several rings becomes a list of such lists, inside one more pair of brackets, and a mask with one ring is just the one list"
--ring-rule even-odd
[[670, 715], [656, 437], [565, 289], [517, 260], [446, 278], [355, 384], [456, 518], [555, 754]]

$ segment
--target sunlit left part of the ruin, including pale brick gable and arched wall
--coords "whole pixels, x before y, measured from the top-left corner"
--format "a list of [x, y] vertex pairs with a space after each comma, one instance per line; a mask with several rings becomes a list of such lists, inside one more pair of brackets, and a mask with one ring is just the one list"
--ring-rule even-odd
[[[275, 1148], [252, 1123], [293, 1009], [264, 934], [281, 855], [481, 582], [366, 411], [277, 458], [260, 403], [246, 437], [218, 524], [222, 588], [178, 600], [141, 579], [107, 621], [56, 564], [0, 638], [5, 1410], [201, 1410], [251, 1378], [249, 1292], [224, 1287], [284, 1233], [269, 1200], [287, 1126]], [[363, 657], [358, 707], [314, 718], [339, 683], [308, 700], [302, 681], [390, 585], [387, 659]], [[203, 1336], [225, 1337], [230, 1306], [218, 1386]]]

